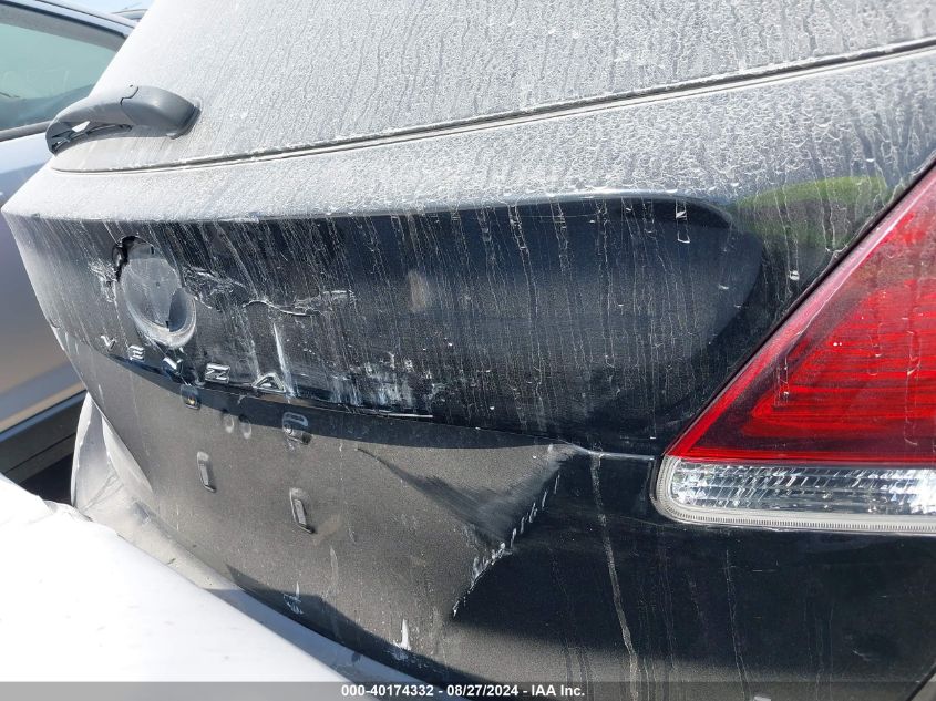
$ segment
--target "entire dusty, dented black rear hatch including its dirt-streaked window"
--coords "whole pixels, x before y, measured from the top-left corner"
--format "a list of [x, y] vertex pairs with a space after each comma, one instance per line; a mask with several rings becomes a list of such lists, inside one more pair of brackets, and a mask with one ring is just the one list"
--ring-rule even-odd
[[101, 86], [172, 90], [192, 131], [76, 142], [4, 209], [122, 480], [431, 681], [906, 698], [929, 540], [685, 526], [649, 494], [933, 161], [932, 18], [488, 10], [143, 20]]

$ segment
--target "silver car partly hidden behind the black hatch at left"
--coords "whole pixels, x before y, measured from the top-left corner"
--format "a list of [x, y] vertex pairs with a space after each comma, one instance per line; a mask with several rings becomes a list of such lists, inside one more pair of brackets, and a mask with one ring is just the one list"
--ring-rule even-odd
[[[91, 91], [133, 27], [71, 4], [0, 1], [0, 204], [49, 159], [49, 121]], [[84, 393], [4, 221], [0, 299], [0, 473], [22, 482], [71, 453]]]

